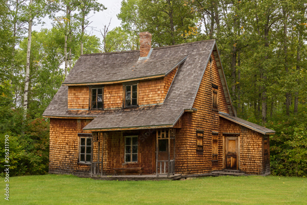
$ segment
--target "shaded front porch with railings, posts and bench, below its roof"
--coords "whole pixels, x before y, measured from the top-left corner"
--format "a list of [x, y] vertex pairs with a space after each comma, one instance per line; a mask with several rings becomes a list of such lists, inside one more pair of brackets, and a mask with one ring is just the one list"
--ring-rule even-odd
[[175, 128], [100, 131], [92, 132], [91, 138], [91, 178], [173, 180], [181, 176], [175, 174]]

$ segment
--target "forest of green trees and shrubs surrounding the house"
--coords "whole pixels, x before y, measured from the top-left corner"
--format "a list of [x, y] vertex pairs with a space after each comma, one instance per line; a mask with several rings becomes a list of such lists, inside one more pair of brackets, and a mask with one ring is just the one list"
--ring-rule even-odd
[[[0, 1], [0, 175], [5, 135], [11, 176], [48, 173], [42, 113], [78, 57], [138, 49], [149, 31], [152, 47], [216, 39], [235, 114], [276, 131], [271, 173], [307, 176], [305, 0], [124, 0], [112, 30], [90, 27], [106, 10], [96, 0]], [[33, 31], [46, 17], [52, 28]]]

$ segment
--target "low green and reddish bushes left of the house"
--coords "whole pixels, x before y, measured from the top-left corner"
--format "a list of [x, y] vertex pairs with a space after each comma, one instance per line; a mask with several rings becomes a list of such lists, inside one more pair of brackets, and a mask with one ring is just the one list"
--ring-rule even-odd
[[4, 145], [9, 136], [9, 163], [5, 163], [4, 146], [0, 149], [0, 175], [4, 174], [4, 164], [10, 164], [10, 176], [42, 175], [48, 173], [49, 166], [49, 123], [44, 119], [28, 122], [25, 135], [10, 131], [0, 133], [0, 143]]

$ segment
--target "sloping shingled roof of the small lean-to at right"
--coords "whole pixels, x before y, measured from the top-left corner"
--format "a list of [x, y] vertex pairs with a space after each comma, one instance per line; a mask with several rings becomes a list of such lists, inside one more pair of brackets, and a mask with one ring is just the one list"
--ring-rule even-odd
[[249, 121], [246, 121], [246, 120], [243, 120], [239, 117], [235, 117], [235, 116], [231, 116], [227, 113], [223, 113], [223, 112], [219, 112], [220, 116], [227, 119], [227, 120], [230, 120], [232, 122], [235, 122], [237, 124], [240, 124], [244, 127], [247, 127], [247, 128], [250, 128], [256, 132], [259, 132], [259, 133], [262, 133], [264, 135], [270, 135], [270, 134], [275, 134], [275, 131], [274, 130], [271, 130], [269, 128], [265, 128], [265, 127], [262, 127], [258, 124], [254, 124], [254, 123], [251, 123]]

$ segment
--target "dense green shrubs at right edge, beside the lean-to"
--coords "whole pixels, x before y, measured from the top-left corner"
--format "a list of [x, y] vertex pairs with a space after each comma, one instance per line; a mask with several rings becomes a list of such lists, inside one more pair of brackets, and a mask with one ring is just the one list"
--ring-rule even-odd
[[276, 131], [270, 137], [271, 173], [307, 176], [307, 113], [268, 123]]

